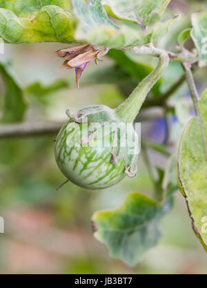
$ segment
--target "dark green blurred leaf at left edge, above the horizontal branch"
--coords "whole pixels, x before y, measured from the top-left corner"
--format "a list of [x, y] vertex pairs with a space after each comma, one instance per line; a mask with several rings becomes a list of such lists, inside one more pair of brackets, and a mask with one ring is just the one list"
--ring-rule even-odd
[[26, 112], [23, 91], [15, 81], [8, 67], [3, 63], [0, 63], [0, 74], [5, 83], [4, 110], [1, 121], [8, 123], [22, 121]]

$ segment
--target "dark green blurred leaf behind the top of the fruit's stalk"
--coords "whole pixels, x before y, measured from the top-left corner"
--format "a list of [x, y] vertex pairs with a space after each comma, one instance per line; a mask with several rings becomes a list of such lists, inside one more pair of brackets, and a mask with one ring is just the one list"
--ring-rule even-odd
[[[131, 76], [134, 76], [137, 79], [137, 82], [141, 81], [141, 79], [144, 79], [152, 70], [154, 69], [151, 65], [147, 65], [145, 63], [132, 61], [128, 57], [128, 55], [121, 50], [109, 50], [108, 56], [110, 56], [111, 59], [115, 60], [115, 62], [128, 74]], [[161, 94], [160, 91], [160, 85], [161, 85], [161, 79], [157, 81], [157, 83], [152, 88], [152, 93], [156, 96], [159, 96]]]

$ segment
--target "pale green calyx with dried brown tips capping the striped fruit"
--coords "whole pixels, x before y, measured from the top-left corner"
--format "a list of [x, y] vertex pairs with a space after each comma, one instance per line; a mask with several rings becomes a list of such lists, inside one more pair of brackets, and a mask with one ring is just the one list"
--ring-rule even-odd
[[81, 138], [79, 144], [87, 145], [112, 134], [111, 160], [114, 165], [124, 161], [125, 174], [132, 178], [137, 175], [137, 156], [139, 154], [139, 137], [132, 123], [124, 123], [119, 119], [115, 110], [105, 105], [84, 107], [75, 114], [66, 110], [73, 122], [88, 124], [88, 134]]

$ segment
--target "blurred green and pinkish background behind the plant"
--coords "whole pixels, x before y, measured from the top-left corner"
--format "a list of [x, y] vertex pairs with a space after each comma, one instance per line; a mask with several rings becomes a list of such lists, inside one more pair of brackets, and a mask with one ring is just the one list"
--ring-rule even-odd
[[[172, 33], [159, 41], [159, 47], [175, 50], [177, 34], [190, 26], [190, 11], [195, 4], [199, 10], [198, 2], [172, 1], [168, 13], [181, 12], [183, 17]], [[35, 82], [50, 87], [61, 79], [58, 86], [62, 88], [48, 94], [37, 90], [30, 92], [31, 86], [26, 90], [26, 121], [66, 121], [68, 107], [72, 112], [92, 104], [117, 107], [135, 87], [139, 76], [144, 77], [143, 63], [154, 63], [151, 58], [128, 55], [130, 61], [137, 63], [135, 73], [128, 70], [127, 61], [112, 60], [115, 58], [112, 53], [99, 65], [91, 63], [88, 66], [78, 90], [75, 72], [60, 70], [61, 60], [54, 54], [64, 47], [66, 45], [60, 43], [5, 45], [5, 54], [0, 55], [0, 59], [10, 65], [21, 88]], [[199, 90], [203, 90], [201, 83], [203, 80], [205, 83], [206, 72], [207, 69], [202, 68], [196, 74]], [[165, 92], [181, 73], [179, 64], [171, 63], [159, 91], [155, 90], [152, 96]], [[0, 81], [3, 114], [6, 87]], [[188, 90], [182, 85], [173, 97], [185, 95]], [[159, 113], [157, 120], [146, 120], [155, 112], [157, 109], [142, 112], [145, 120], [141, 123], [141, 133], [145, 138], [161, 142], [164, 141], [164, 124]], [[172, 123], [171, 146], [175, 145], [176, 129]], [[172, 210], [161, 222], [163, 237], [159, 245], [150, 249], [133, 268], [112, 260], [106, 248], [93, 238], [90, 217], [99, 209], [119, 206], [130, 191], [152, 196], [152, 182], [142, 155], [139, 155], [136, 178], [125, 178], [114, 187], [101, 191], [88, 191], [68, 183], [57, 192], [56, 187], [65, 178], [55, 163], [54, 140], [55, 134], [0, 139], [0, 216], [5, 219], [5, 234], [0, 234], [1, 274], [206, 274], [206, 253], [191, 229], [185, 200], [178, 191]], [[164, 156], [150, 152], [150, 158], [165, 167], [167, 159]]]

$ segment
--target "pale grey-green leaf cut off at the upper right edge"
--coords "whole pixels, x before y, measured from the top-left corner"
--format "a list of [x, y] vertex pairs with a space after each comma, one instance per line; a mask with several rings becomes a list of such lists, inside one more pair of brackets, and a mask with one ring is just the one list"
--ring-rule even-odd
[[193, 13], [191, 15], [191, 37], [199, 53], [199, 58], [207, 61], [207, 12]]

